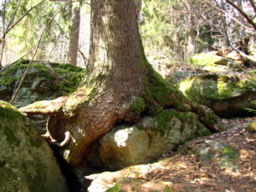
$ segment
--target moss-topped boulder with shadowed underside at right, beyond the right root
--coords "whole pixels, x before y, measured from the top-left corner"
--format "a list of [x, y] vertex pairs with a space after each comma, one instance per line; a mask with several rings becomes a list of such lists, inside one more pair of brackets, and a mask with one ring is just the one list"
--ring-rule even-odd
[[199, 75], [177, 85], [193, 101], [212, 108], [222, 118], [252, 115], [245, 108], [255, 108], [255, 73], [242, 75]]

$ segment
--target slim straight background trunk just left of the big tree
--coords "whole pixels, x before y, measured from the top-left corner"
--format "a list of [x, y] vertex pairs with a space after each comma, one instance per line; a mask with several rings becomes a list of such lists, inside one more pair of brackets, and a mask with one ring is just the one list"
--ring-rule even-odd
[[80, 27], [80, 6], [73, 7], [72, 10], [72, 26], [70, 28], [69, 47], [67, 52], [67, 62], [77, 65], [78, 49], [79, 49], [79, 27]]

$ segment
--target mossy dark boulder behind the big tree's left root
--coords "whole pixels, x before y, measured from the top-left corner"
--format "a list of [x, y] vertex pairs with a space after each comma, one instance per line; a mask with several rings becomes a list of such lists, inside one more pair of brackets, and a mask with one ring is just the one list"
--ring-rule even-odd
[[[26, 71], [28, 62], [18, 61], [0, 73], [0, 100], [11, 101], [14, 90], [20, 84]], [[72, 64], [33, 61], [13, 105], [20, 108], [32, 102], [67, 96], [77, 89], [83, 76], [84, 69], [74, 67]], [[44, 133], [47, 117], [37, 115], [31, 119], [38, 131]]]

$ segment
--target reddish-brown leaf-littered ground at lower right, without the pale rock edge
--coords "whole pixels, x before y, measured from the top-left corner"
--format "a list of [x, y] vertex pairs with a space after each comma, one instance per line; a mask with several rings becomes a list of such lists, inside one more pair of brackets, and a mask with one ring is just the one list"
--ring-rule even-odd
[[[253, 137], [245, 130], [255, 120], [256, 118], [223, 119], [226, 131], [186, 143], [186, 152], [180, 146], [177, 152], [163, 155], [160, 161], [161, 164], [166, 164], [166, 168], [154, 172], [154, 179], [171, 181], [174, 191], [256, 191], [256, 135]], [[202, 143], [217, 139], [230, 144], [239, 152], [239, 157], [236, 158], [237, 168], [218, 167], [214, 159], [201, 161], [193, 154], [195, 148]]]

